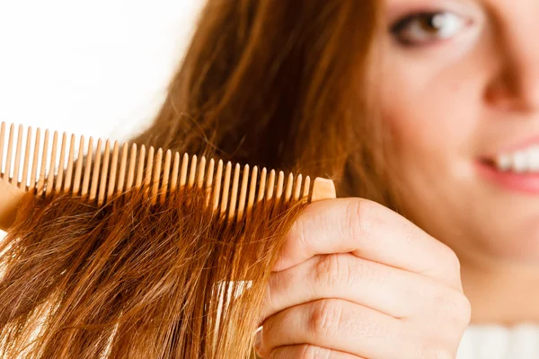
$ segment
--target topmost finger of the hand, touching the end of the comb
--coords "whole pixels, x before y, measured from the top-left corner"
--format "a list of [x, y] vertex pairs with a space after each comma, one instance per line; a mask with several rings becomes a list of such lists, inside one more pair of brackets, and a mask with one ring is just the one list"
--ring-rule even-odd
[[346, 252], [462, 287], [453, 250], [389, 208], [361, 198], [306, 206], [288, 232], [274, 270], [315, 255]]

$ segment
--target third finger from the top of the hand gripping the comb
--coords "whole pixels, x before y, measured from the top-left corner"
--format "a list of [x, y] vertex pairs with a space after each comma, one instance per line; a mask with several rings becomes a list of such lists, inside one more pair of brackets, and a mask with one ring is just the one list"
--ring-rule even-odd
[[264, 321], [259, 353], [270, 355], [279, 346], [309, 344], [364, 357], [394, 359], [410, 346], [402, 322], [347, 301], [308, 302], [279, 311]]

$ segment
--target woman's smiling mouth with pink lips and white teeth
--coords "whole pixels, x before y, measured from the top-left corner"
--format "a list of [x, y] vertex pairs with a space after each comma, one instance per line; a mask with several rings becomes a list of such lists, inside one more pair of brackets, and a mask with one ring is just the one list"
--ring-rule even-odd
[[498, 153], [477, 162], [480, 175], [496, 186], [539, 195], [539, 145]]

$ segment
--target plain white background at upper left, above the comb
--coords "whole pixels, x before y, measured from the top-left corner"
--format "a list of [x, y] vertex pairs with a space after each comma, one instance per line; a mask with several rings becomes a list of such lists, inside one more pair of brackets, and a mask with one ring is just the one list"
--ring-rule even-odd
[[128, 138], [159, 109], [203, 4], [1, 1], [0, 121]]

